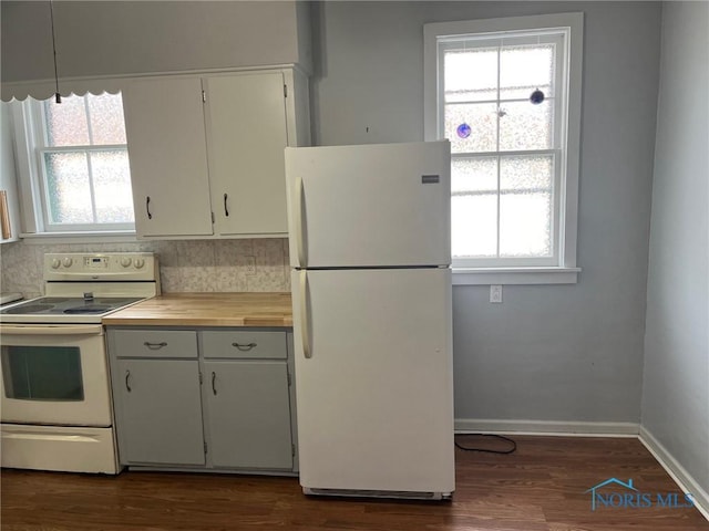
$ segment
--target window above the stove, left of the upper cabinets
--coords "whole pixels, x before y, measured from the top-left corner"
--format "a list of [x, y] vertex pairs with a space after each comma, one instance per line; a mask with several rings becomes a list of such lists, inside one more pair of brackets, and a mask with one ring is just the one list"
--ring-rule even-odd
[[19, 115], [20, 166], [31, 181], [23, 187], [33, 211], [28, 232], [134, 230], [121, 94], [28, 98]]

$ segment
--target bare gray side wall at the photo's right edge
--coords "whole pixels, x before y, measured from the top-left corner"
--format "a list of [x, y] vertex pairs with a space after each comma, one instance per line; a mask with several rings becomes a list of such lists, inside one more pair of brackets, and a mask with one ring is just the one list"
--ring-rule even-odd
[[643, 427], [709, 491], [709, 4], [667, 2]]

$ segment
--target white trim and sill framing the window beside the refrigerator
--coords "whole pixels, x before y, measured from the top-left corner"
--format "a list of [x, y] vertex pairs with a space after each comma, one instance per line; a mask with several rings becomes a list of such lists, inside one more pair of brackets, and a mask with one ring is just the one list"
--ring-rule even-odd
[[533, 17], [510, 17], [423, 25], [423, 117], [424, 137], [436, 140], [439, 123], [438, 40], [470, 33], [568, 28], [568, 124], [566, 127], [566, 181], [558, 195], [564, 198], [559, 208], [561, 256], [558, 266], [521, 268], [453, 268], [453, 284], [554, 284], [576, 283], [580, 269], [576, 267], [578, 231], [578, 168], [580, 150], [580, 93], [583, 62], [583, 13], [554, 13]]

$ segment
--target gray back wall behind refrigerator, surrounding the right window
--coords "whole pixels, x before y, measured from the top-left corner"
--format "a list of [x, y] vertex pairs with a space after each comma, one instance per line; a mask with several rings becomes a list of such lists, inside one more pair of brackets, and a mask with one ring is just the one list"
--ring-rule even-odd
[[574, 285], [505, 287], [503, 304], [487, 287], [454, 288], [458, 419], [639, 421], [660, 4], [326, 2], [314, 13], [315, 139], [331, 145], [423, 139], [423, 23], [577, 11], [583, 272]]

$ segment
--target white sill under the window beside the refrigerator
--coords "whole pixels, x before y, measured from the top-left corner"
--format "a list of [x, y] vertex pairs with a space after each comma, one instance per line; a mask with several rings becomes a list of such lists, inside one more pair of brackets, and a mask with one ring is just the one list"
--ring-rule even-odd
[[575, 284], [580, 268], [453, 268], [453, 285]]

